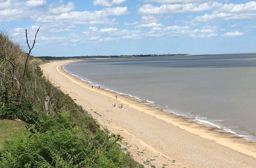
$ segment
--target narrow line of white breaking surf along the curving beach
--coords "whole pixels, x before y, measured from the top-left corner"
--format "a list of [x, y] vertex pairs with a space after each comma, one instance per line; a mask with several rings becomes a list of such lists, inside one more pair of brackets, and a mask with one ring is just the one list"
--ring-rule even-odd
[[[106, 59], [111, 59], [111, 58], [106, 58]], [[84, 61], [84, 60], [79, 60], [79, 61]], [[69, 63], [71, 63], [71, 62], [69, 62]], [[71, 72], [66, 70], [64, 66], [69, 64], [69, 63], [61, 65], [61, 68], [62, 68], [63, 71], [65, 71], [66, 73], [68, 73], [68, 74], [70, 74], [72, 76], [75, 76], [76, 78], [86, 82], [88, 85], [91, 85], [91, 86], [94, 86], [94, 87], [100, 86], [100, 85], [98, 85], [98, 83], [92, 82], [90, 80], [82, 79], [81, 77], [79, 77], [79, 76], [77, 76], [75, 74], [72, 74]], [[109, 89], [109, 88], [104, 88], [102, 86], [100, 86], [100, 88], [104, 89], [106, 91], [113, 92], [115, 94], [119, 94], [119, 95], [125, 96], [125, 97], [130, 98], [130, 99], [134, 99], [135, 101], [138, 101], [138, 102], [141, 102], [141, 103], [144, 103], [144, 104], [156, 107], [156, 108], [158, 108], [160, 110], [163, 110], [165, 113], [177, 115], [179, 117], [184, 118], [187, 122], [195, 122], [197, 124], [205, 126], [206, 128], [215, 129], [216, 131], [223, 132], [223, 133], [230, 133], [234, 137], [241, 137], [241, 138], [244, 138], [246, 141], [249, 141], [249, 142], [252, 142], [252, 143], [256, 143], [256, 135], [246, 135], [246, 134], [239, 134], [239, 133], [236, 134], [236, 132], [234, 130], [231, 130], [229, 128], [226, 129], [225, 126], [219, 125], [218, 123], [216, 124], [216, 123], [213, 123], [211, 121], [202, 119], [200, 117], [198, 119], [196, 119], [193, 116], [186, 116], [185, 114], [175, 113], [174, 110], [172, 110], [172, 109], [170, 109], [170, 110], [169, 109], [165, 109], [164, 105], [155, 104], [155, 102], [153, 102], [153, 101], [145, 100], [145, 99], [143, 100], [143, 99], [141, 99], [139, 97], [136, 97], [136, 96], [133, 96], [133, 95], [130, 95], [130, 94], [126, 94], [126, 93], [121, 93], [121, 92], [118, 92], [118, 91], [115, 91], [115, 90], [112, 90], [112, 89]], [[163, 106], [163, 107], [160, 107], [160, 106]], [[247, 136], [253, 137], [253, 141], [250, 141], [250, 139], [246, 138]]]

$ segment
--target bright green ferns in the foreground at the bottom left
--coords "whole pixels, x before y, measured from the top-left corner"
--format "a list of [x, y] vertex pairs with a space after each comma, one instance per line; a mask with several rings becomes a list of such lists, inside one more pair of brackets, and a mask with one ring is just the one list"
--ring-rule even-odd
[[6, 142], [0, 167], [139, 167], [121, 152], [120, 135], [95, 134], [70, 121], [68, 114], [56, 118], [39, 115], [40, 129]]

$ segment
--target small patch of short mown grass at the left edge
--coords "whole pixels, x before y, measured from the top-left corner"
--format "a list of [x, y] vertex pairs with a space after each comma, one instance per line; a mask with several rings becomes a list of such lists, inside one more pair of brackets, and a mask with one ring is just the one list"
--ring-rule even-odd
[[0, 151], [3, 150], [5, 140], [17, 137], [24, 132], [28, 132], [22, 121], [0, 120]]

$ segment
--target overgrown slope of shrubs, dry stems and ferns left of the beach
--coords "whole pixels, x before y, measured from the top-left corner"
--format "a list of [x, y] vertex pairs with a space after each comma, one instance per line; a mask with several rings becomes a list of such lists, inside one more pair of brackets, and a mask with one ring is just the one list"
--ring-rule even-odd
[[122, 152], [120, 135], [42, 76], [41, 63], [1, 32], [0, 167], [143, 167]]

